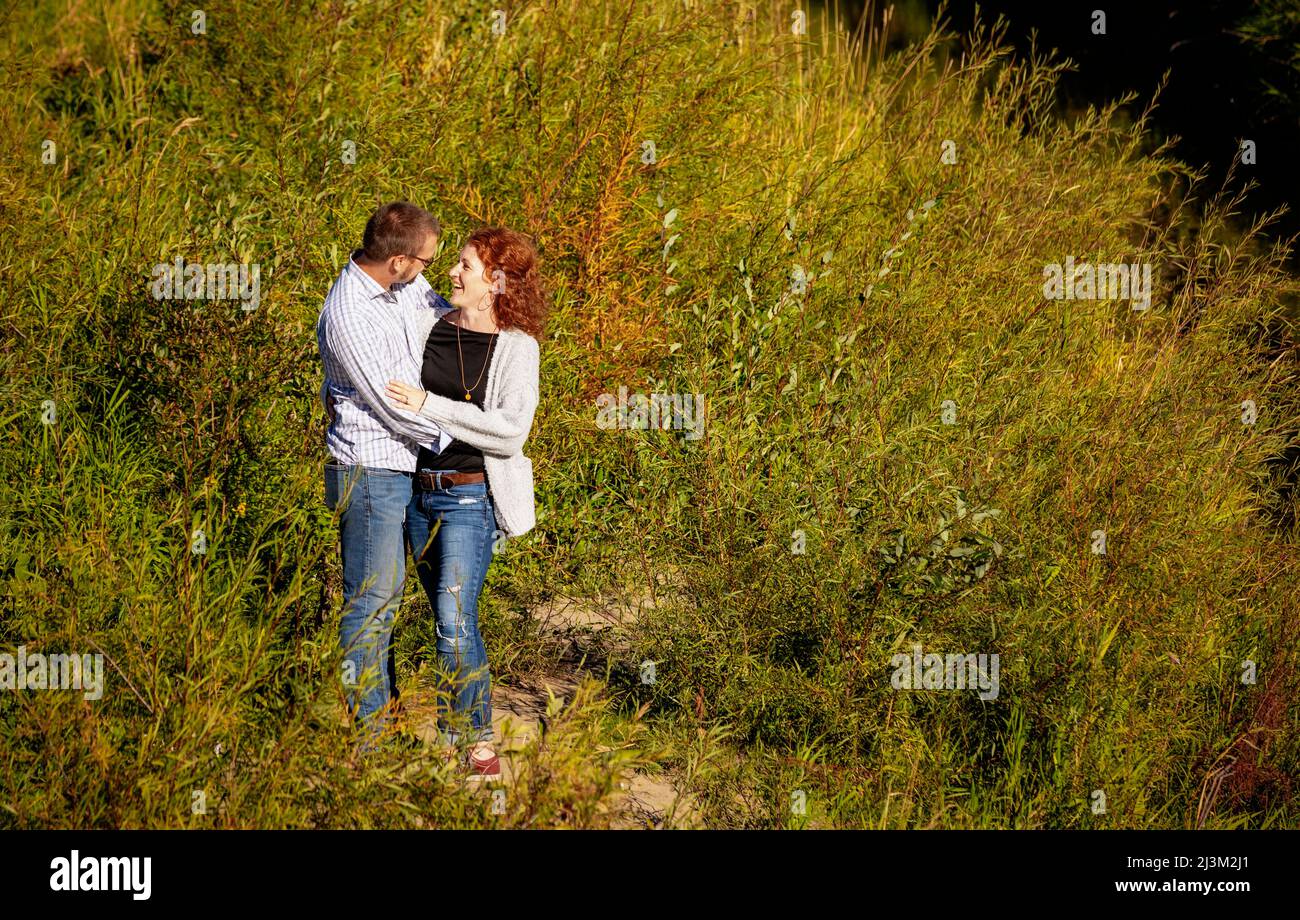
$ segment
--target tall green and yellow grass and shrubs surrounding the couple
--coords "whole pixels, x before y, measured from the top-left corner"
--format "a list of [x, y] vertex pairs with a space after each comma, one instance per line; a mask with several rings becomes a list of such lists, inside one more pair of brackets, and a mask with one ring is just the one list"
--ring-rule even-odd
[[[1053, 120], [1063, 64], [996, 30], [781, 4], [205, 9], [5, 19], [3, 641], [110, 663], [0, 694], [5, 824], [603, 826], [659, 742], [714, 826], [1296, 824], [1294, 283], [1143, 122]], [[504, 813], [339, 720], [313, 324], [396, 198], [445, 255], [533, 234], [554, 292], [494, 678], [556, 667], [534, 604], [658, 595]], [[177, 255], [261, 305], [152, 299]], [[1045, 300], [1067, 256], [1153, 264], [1150, 309]], [[620, 385], [706, 437], [598, 428]], [[415, 580], [398, 637], [411, 680]], [[893, 690], [913, 643], [1000, 695]]]

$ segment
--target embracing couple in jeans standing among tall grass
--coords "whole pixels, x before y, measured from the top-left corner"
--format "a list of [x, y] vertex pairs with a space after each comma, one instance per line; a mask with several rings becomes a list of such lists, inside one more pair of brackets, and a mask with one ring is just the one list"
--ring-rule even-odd
[[325, 503], [343, 563], [342, 677], [372, 750], [393, 721], [393, 620], [408, 550], [436, 617], [439, 698], [451, 700], [439, 735], [450, 754], [467, 732], [473, 773], [494, 777], [478, 594], [504, 538], [534, 524], [523, 446], [545, 296], [532, 242], [484, 227], [456, 253], [443, 299], [422, 274], [439, 236], [422, 208], [382, 205], [316, 324], [330, 417]]

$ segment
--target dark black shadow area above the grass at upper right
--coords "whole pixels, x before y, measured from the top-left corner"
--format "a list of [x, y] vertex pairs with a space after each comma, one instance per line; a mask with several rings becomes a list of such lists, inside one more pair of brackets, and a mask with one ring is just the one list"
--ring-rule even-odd
[[[829, 4], [827, 4], [829, 5]], [[841, 0], [844, 18], [863, 16], [879, 25], [888, 4]], [[902, 0], [892, 14], [890, 45], [906, 44], [922, 14], [933, 19], [939, 0]], [[942, 4], [950, 31], [966, 34], [976, 4]], [[1056, 49], [1076, 64], [1060, 84], [1061, 113], [1112, 101], [1128, 91], [1134, 114], [1154, 96], [1169, 71], [1152, 126], [1160, 140], [1176, 136], [1174, 156], [1206, 166], [1208, 188], [1218, 188], [1240, 156], [1242, 140], [1254, 142], [1254, 162], [1238, 164], [1234, 191], [1254, 179], [1240, 221], [1300, 200], [1300, 4], [1294, 0], [1175, 0], [1121, 4], [1097, 0], [988, 0], [979, 21], [1008, 22], [1005, 40], [1019, 57]], [[1105, 13], [1105, 31], [1095, 10]], [[1300, 213], [1283, 214], [1270, 227], [1273, 239], [1300, 233]], [[1291, 253], [1292, 270], [1300, 255]]]

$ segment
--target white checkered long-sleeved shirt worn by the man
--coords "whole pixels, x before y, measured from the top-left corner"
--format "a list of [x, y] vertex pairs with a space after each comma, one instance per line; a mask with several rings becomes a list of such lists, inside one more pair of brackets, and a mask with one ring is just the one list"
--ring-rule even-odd
[[452, 438], [426, 416], [394, 405], [384, 387], [399, 379], [424, 389], [425, 339], [452, 307], [422, 274], [385, 291], [354, 261], [360, 252], [348, 257], [316, 321], [326, 413], [334, 399], [325, 447], [339, 463], [413, 472], [420, 446], [441, 454]]

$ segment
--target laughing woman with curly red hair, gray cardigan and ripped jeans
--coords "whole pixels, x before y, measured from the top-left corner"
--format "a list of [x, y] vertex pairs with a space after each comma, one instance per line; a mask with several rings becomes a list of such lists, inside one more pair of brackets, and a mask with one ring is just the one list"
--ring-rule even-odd
[[[424, 350], [424, 389], [390, 381], [389, 398], [425, 415], [455, 441], [420, 448], [407, 539], [437, 617], [438, 660], [455, 721], [468, 717], [469, 761], [500, 776], [493, 751], [491, 673], [478, 634], [478, 593], [500, 535], [532, 529], [533, 464], [521, 452], [538, 399], [545, 296], [537, 252], [523, 234], [484, 227], [451, 269], [455, 309], [439, 308]], [[443, 738], [460, 732], [439, 715]]]

